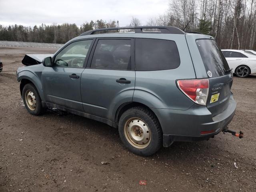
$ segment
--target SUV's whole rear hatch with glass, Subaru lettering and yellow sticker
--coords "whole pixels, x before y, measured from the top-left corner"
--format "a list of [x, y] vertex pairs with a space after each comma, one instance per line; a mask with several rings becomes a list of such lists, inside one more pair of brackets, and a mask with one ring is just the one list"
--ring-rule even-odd
[[215, 40], [198, 39], [196, 45], [209, 78], [209, 95], [206, 105], [212, 116], [216, 116], [228, 106], [233, 74]]

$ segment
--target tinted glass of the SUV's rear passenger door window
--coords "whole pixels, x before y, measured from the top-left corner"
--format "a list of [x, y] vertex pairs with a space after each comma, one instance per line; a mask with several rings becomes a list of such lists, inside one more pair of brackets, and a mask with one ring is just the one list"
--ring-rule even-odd
[[131, 40], [100, 39], [92, 57], [91, 68], [131, 69]]

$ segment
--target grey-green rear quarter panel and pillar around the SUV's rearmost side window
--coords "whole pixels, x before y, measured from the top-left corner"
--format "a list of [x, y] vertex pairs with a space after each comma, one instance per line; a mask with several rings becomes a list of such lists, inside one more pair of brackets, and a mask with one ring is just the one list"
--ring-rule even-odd
[[[155, 38], [155, 37], [154, 37]], [[171, 70], [136, 71], [133, 101], [150, 108], [186, 110], [194, 103], [176, 86], [178, 79], [196, 78], [185, 35], [165, 35], [161, 39], [176, 42], [180, 66]]]

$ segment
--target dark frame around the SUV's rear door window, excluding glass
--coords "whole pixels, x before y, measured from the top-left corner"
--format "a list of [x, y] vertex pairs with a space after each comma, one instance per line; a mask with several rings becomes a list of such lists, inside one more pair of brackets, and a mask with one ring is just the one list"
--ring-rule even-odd
[[[93, 56], [94, 56], [94, 52], [95, 52], [96, 46], [97, 46], [97, 44], [98, 44], [98, 41], [99, 41], [99, 40], [106, 40], [106, 39], [110, 39], [110, 40], [131, 40], [131, 69], [91, 68], [91, 65], [92, 65], [92, 58], [93, 58]], [[96, 40], [95, 40], [95, 42], [94, 42], [94, 45], [93, 45], [93, 47], [92, 47], [90, 56], [89, 56], [89, 58], [88, 58], [88, 62], [87, 62], [86, 68], [87, 68], [87, 69], [98, 69], [98, 70], [135, 71], [134, 38], [122, 38], [122, 37], [120, 37], [120, 38], [116, 38], [116, 37], [113, 37], [113, 38], [110, 38], [110, 37], [106, 37], [106, 38], [96, 38]]]

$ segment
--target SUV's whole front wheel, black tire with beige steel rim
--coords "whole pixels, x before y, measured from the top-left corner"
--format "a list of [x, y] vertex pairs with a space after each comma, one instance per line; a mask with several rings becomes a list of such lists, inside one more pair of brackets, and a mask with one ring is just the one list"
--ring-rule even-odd
[[32, 115], [40, 115], [44, 111], [42, 100], [38, 90], [33, 84], [26, 84], [22, 90], [22, 98], [28, 112]]

